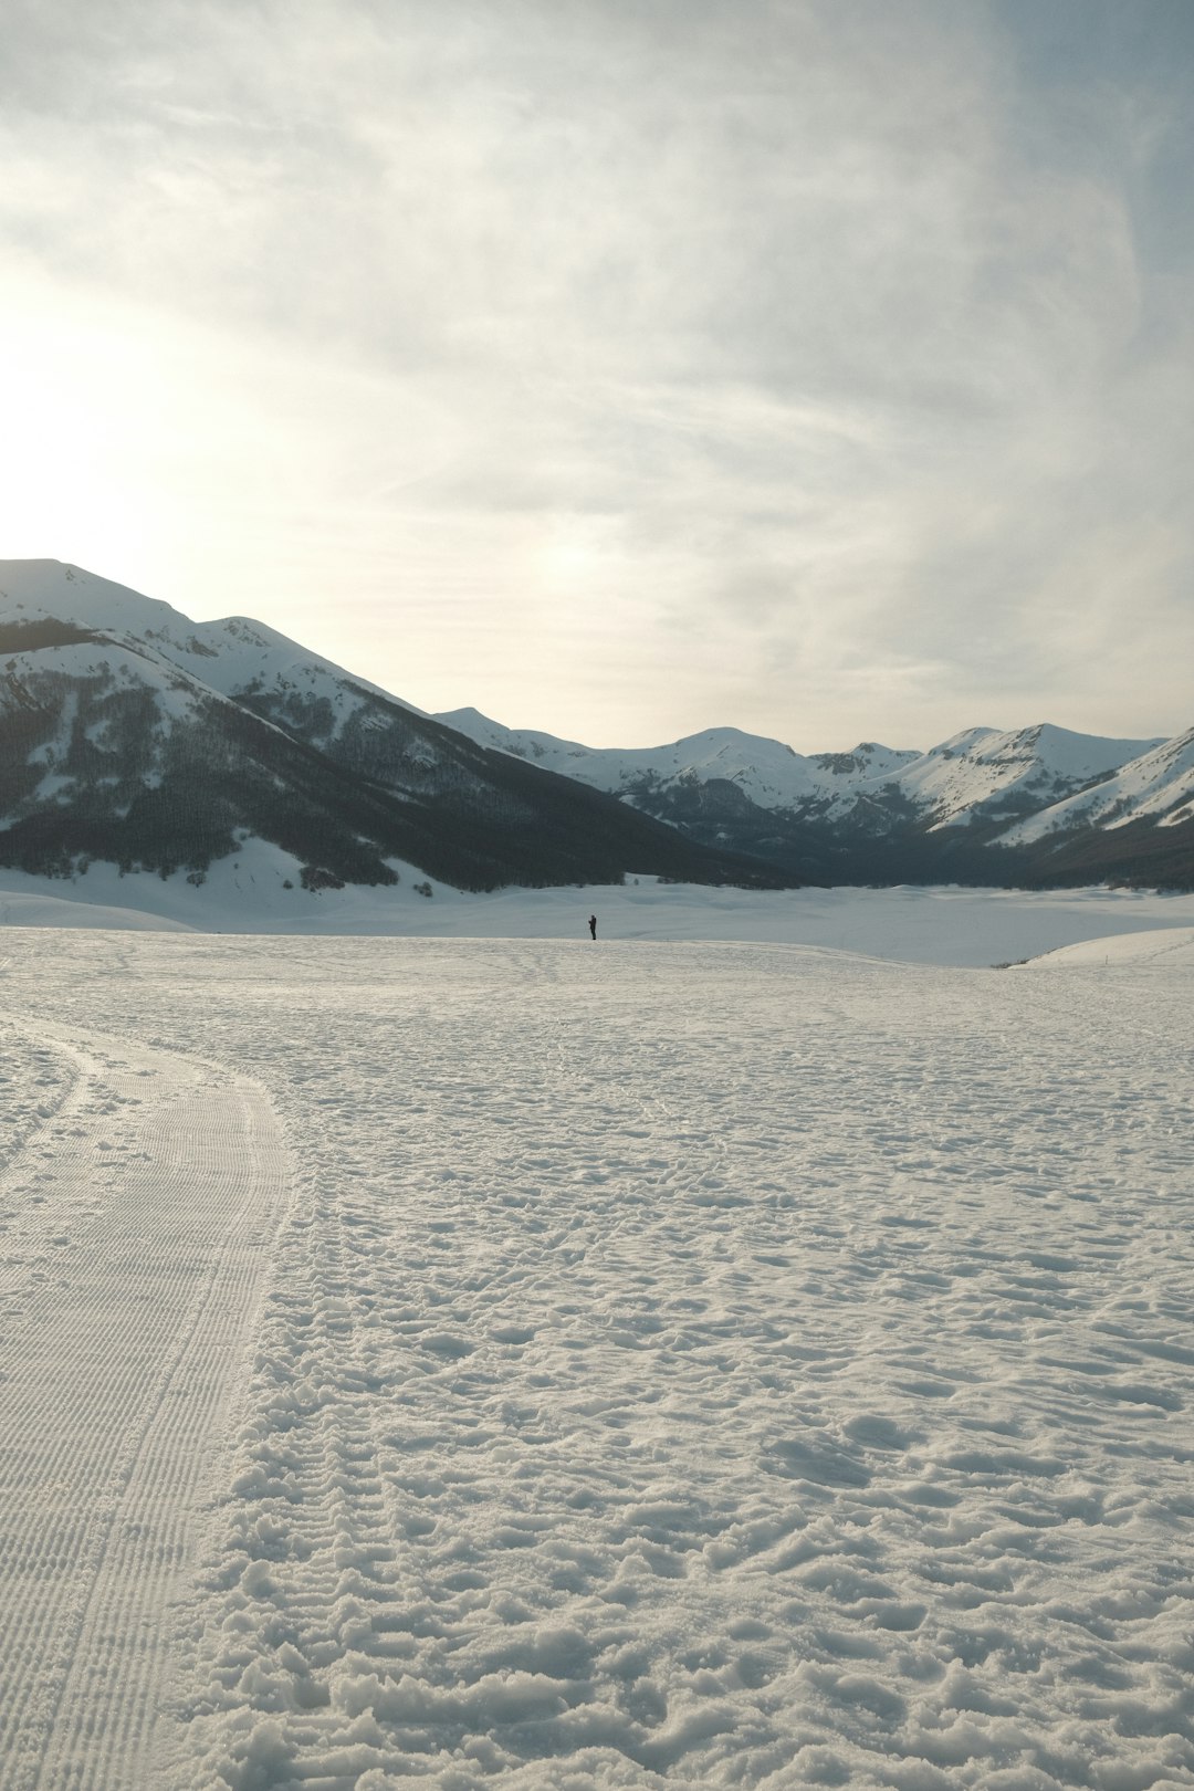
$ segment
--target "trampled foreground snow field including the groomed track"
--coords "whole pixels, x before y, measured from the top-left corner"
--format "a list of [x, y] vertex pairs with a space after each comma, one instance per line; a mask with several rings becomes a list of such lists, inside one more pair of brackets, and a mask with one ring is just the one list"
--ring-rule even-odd
[[1190, 897], [2, 901], [4, 1791], [1194, 1786]]

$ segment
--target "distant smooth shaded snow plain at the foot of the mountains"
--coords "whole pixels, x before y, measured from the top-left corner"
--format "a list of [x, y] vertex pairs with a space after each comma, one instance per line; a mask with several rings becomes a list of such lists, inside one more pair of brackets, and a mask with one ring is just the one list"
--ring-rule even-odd
[[[829, 946], [909, 964], [985, 967], [1112, 933], [1194, 926], [1194, 896], [1155, 890], [798, 888], [739, 890], [630, 878], [616, 888], [505, 888], [473, 896], [394, 861], [392, 888], [299, 888], [299, 865], [263, 840], [211, 865], [202, 888], [183, 872], [122, 878], [113, 865], [47, 881], [0, 869], [0, 926], [132, 931], [732, 940]], [[430, 888], [431, 897], [419, 894]]]

